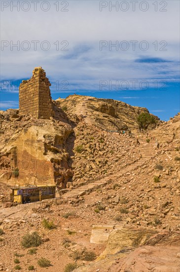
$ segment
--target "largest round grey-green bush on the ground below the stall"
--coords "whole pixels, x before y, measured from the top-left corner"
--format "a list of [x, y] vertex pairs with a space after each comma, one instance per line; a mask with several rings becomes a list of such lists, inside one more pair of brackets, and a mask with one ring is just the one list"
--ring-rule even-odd
[[35, 231], [22, 237], [21, 245], [25, 248], [39, 246], [42, 243], [40, 235]]

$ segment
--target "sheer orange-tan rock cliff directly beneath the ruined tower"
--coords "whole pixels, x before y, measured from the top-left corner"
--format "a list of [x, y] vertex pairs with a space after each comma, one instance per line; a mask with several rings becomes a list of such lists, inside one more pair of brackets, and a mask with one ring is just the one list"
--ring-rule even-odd
[[10, 121], [12, 114], [8, 112], [9, 121], [6, 114], [2, 119], [1, 181], [11, 185], [55, 183], [59, 188], [66, 187], [72, 178], [67, 148], [72, 126], [67, 120], [60, 121], [60, 116], [59, 120], [43, 120], [18, 115]]

